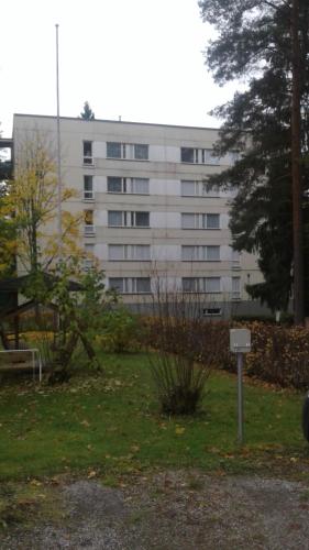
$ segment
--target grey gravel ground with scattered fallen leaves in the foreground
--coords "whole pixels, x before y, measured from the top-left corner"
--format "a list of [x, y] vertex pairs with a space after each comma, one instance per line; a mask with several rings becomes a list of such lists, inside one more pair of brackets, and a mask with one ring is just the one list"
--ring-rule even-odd
[[309, 548], [309, 484], [165, 472], [118, 488], [98, 480], [55, 487], [62, 521], [0, 534], [1, 550]]

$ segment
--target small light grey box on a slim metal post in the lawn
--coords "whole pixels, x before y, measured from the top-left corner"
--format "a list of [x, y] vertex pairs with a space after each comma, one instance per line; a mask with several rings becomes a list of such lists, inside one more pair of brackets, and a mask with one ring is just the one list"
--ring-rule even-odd
[[243, 437], [243, 353], [251, 351], [251, 332], [247, 329], [230, 330], [230, 350], [238, 358], [238, 425], [239, 442], [242, 444]]

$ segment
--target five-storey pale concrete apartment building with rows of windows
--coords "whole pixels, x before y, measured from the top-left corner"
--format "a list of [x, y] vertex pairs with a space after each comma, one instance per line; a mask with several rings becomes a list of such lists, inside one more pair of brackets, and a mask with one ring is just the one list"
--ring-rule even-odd
[[[55, 117], [14, 116], [14, 143], [38, 131], [56, 146], [56, 130]], [[262, 275], [255, 256], [231, 248], [231, 193], [205, 183], [235, 160], [212, 155], [217, 139], [208, 128], [60, 118], [63, 185], [78, 191], [71, 211], [85, 212], [80, 241], [124, 302], [145, 302], [159, 285], [200, 293], [206, 316], [228, 304], [245, 311], [245, 285]]]

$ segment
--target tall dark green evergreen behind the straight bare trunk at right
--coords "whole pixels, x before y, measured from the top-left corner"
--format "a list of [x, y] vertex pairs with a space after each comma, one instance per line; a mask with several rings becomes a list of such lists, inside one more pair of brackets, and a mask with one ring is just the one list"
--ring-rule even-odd
[[[299, 0], [301, 183], [305, 235], [309, 223], [309, 3]], [[217, 30], [206, 51], [214, 80], [242, 79], [236, 92], [213, 113], [224, 120], [217, 154], [238, 151], [235, 164], [209, 179], [234, 187], [233, 246], [257, 252], [264, 282], [247, 290], [274, 309], [286, 309], [293, 283], [291, 210], [291, 0], [200, 0], [205, 21]], [[308, 239], [306, 240], [308, 242]], [[305, 244], [305, 250], [308, 244]], [[306, 256], [308, 257], [308, 256]], [[308, 260], [306, 271], [309, 274]], [[308, 293], [309, 294], [309, 293]], [[307, 305], [309, 311], [309, 304]]]

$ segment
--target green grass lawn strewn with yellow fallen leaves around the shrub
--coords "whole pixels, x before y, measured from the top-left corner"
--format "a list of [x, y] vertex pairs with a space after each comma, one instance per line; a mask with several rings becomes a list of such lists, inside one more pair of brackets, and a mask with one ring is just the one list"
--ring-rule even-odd
[[107, 355], [104, 364], [104, 376], [77, 375], [59, 387], [2, 383], [2, 481], [65, 472], [112, 480], [154, 468], [307, 476], [302, 395], [246, 384], [240, 448], [233, 375], [213, 372], [199, 415], [168, 418], [159, 414], [145, 355]]

